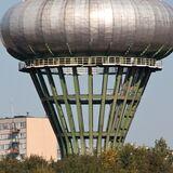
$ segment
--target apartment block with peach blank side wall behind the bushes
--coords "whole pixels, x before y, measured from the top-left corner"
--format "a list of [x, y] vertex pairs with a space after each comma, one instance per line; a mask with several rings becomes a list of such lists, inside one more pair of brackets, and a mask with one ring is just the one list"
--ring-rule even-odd
[[57, 142], [48, 118], [17, 116], [0, 119], [0, 158], [31, 155], [57, 159]]

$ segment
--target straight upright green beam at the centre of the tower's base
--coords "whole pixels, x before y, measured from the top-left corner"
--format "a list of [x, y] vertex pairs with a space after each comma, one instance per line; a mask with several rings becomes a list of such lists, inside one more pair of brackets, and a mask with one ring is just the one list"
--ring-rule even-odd
[[93, 152], [93, 75], [92, 67], [88, 67], [89, 72], [89, 146]]

